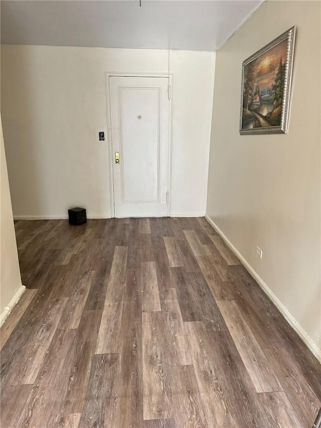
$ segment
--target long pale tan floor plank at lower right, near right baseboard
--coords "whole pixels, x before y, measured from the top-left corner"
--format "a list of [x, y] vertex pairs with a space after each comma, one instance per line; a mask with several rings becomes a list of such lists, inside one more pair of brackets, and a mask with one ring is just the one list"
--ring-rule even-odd
[[270, 366], [235, 302], [218, 301], [217, 304], [256, 391], [282, 391], [283, 387], [280, 381], [275, 375], [273, 368]]

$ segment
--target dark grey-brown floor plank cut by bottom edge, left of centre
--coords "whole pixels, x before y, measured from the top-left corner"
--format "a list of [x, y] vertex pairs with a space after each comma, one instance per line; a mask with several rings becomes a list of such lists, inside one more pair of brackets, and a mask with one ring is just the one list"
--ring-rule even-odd
[[117, 354], [94, 355], [79, 428], [112, 426], [113, 388]]

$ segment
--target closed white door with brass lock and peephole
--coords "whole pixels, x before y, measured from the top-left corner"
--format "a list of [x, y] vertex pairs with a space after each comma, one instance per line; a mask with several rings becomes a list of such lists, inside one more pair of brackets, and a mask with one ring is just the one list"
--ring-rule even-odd
[[168, 77], [110, 76], [109, 89], [115, 217], [167, 216]]

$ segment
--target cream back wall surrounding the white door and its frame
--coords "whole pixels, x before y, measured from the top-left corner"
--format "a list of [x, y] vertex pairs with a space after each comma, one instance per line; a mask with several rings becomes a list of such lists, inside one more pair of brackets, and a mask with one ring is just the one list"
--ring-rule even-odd
[[[204, 215], [215, 52], [171, 51], [171, 213]], [[110, 216], [105, 72], [167, 73], [168, 51], [2, 46], [1, 109], [15, 216]], [[197, 141], [197, 145], [195, 144]]]

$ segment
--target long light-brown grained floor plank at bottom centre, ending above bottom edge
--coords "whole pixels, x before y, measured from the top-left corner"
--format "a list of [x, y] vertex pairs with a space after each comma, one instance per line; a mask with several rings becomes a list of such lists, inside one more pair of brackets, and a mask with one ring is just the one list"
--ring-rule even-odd
[[143, 418], [171, 418], [170, 373], [162, 352], [161, 313], [142, 313]]

